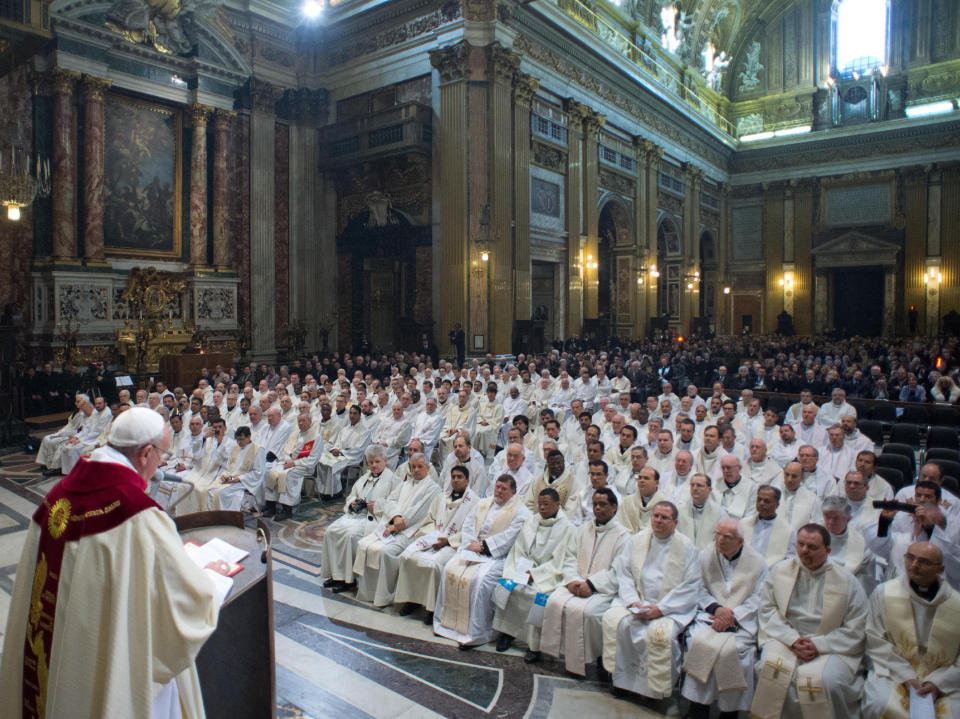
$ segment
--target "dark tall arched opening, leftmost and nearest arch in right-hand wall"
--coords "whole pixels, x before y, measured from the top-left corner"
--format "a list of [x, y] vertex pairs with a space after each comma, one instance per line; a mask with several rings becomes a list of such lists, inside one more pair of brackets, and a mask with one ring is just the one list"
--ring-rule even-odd
[[597, 227], [597, 322], [606, 336], [629, 337], [632, 332], [631, 285], [633, 231], [630, 213], [619, 199], [600, 209]]

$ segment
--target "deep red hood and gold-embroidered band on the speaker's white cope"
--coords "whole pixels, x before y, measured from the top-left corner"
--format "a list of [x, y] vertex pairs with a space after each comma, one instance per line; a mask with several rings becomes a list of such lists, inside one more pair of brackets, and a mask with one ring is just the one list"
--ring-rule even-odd
[[[159, 509], [146, 488], [143, 478], [129, 467], [81, 460], [34, 513], [41, 534], [23, 646], [24, 719], [43, 719], [46, 713], [53, 623], [67, 542], [114, 529], [144, 509]], [[71, 620], [78, 619], [63, 619]]]

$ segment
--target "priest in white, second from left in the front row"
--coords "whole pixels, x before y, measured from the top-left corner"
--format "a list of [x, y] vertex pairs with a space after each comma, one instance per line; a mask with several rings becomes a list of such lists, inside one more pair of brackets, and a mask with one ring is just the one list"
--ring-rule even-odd
[[433, 498], [441, 492], [428, 476], [426, 455], [412, 455], [408, 465], [408, 471], [398, 474], [400, 481], [387, 498], [382, 520], [357, 545], [353, 562], [357, 599], [376, 607], [393, 604], [400, 555], [427, 521]]

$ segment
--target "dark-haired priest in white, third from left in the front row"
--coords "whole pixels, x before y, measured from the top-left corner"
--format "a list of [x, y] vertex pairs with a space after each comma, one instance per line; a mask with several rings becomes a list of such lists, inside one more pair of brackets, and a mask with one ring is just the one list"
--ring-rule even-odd
[[470, 488], [468, 467], [451, 467], [449, 477], [446, 489], [434, 496], [427, 521], [400, 555], [394, 595], [394, 602], [403, 605], [401, 615], [411, 614], [421, 606], [426, 611], [423, 621], [428, 625], [433, 624], [443, 568], [460, 549], [463, 525], [481, 499]]

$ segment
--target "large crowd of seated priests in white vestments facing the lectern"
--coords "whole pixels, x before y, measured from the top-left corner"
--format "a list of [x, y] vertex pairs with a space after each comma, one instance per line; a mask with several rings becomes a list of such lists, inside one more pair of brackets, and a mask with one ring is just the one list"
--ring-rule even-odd
[[[635, 402], [622, 372], [534, 376], [447, 365], [372, 386], [342, 371], [161, 385], [136, 397], [173, 436], [150, 492], [177, 513], [276, 522], [305, 491], [345, 495], [323, 587], [465, 650], [517, 644], [525, 662], [555, 658], [615, 693], [679, 693], [695, 719], [714, 704], [721, 717], [909, 717], [924, 702], [960, 717], [950, 465], [891, 485], [883, 437], [860, 431], [841, 388], [781, 413], [722, 383], [681, 399], [664, 381]], [[37, 461], [54, 473], [89, 454], [133, 404], [120, 399], [77, 395]]]

